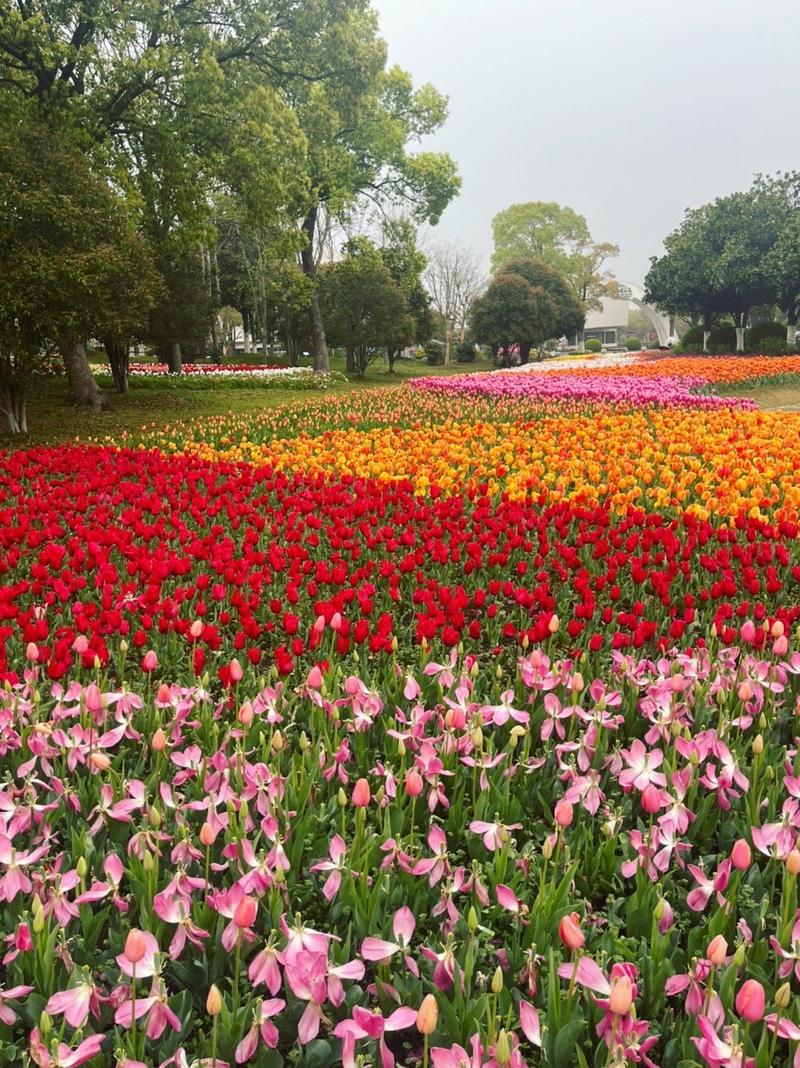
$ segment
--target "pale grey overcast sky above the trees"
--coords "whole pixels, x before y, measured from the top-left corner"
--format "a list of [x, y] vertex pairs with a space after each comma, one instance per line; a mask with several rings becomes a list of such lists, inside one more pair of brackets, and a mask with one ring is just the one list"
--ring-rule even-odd
[[450, 97], [437, 231], [487, 264], [495, 213], [558, 201], [641, 282], [686, 207], [800, 169], [799, 0], [374, 3], [390, 61]]

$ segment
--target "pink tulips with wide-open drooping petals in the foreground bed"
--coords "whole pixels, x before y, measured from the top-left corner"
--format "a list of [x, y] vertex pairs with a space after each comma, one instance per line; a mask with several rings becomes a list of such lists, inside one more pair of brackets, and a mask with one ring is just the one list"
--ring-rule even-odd
[[63, 1066], [786, 1063], [800, 656], [737, 637], [344, 677], [331, 621], [294, 685], [234, 659], [217, 696], [121, 649], [53, 686], [32, 643], [5, 1033]]

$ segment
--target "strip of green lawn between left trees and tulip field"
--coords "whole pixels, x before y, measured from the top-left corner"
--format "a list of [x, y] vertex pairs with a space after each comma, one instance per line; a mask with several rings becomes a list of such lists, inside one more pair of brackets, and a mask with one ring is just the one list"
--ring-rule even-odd
[[[332, 371], [344, 371], [341, 359], [331, 361]], [[486, 364], [452, 364], [449, 367], [430, 367], [424, 361], [398, 361], [395, 374], [390, 375], [381, 363], [374, 363], [364, 379], [354, 379], [330, 390], [346, 393], [349, 390], [377, 389], [399, 386], [409, 378], [427, 374], [459, 374], [470, 370], [487, 370]], [[99, 370], [99, 368], [98, 368]], [[28, 445], [59, 444], [75, 438], [81, 440], [113, 439], [123, 431], [135, 431], [142, 426], [159, 423], [174, 423], [176, 420], [199, 419], [204, 415], [220, 415], [229, 411], [260, 411], [278, 405], [318, 396], [309, 390], [292, 389], [187, 389], [170, 383], [159, 388], [152, 381], [137, 389], [131, 379], [131, 389], [126, 396], [120, 396], [111, 389], [105, 390], [107, 407], [99, 412], [77, 409], [66, 398], [66, 382], [50, 379], [38, 382], [28, 397], [28, 426], [30, 433], [10, 437], [0, 434], [0, 449], [26, 447]]]

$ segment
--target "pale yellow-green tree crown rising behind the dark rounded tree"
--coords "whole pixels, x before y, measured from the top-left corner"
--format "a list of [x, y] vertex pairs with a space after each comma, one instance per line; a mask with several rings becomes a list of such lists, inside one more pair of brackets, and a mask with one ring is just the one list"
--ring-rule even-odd
[[586, 309], [599, 309], [603, 297], [617, 293], [617, 283], [602, 266], [619, 248], [593, 240], [586, 220], [570, 207], [545, 201], [512, 204], [491, 221], [495, 252], [492, 270], [508, 260], [539, 260], [560, 271]]

